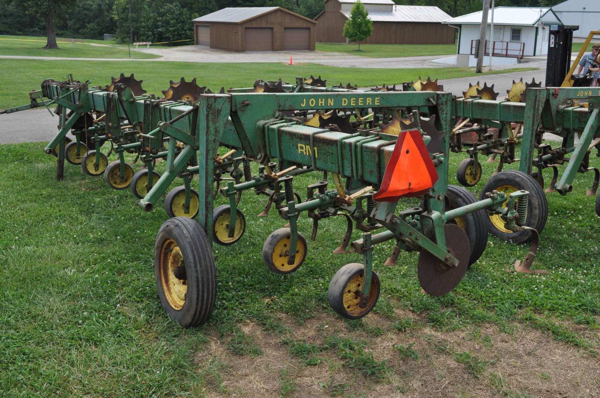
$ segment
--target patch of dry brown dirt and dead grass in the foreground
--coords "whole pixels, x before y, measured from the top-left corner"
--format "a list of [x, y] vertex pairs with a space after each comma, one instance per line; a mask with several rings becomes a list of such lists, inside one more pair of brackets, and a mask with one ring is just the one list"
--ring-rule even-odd
[[[397, 319], [418, 315], [397, 310]], [[329, 314], [309, 319], [302, 325], [286, 315], [279, 316], [287, 325], [289, 338], [322, 345], [335, 334], [365, 340], [367, 350], [377, 361], [387, 360], [391, 372], [383, 379], [364, 378], [338, 358], [335, 351], [323, 351], [323, 361], [307, 366], [289, 354], [281, 337], [249, 322], [239, 327], [253, 337], [263, 355], [255, 358], [229, 352], [225, 340], [212, 338], [205, 351], [197, 354], [200, 372], [205, 372], [205, 392], [209, 397], [279, 397], [286, 385], [295, 388], [292, 397], [498, 397], [529, 394], [533, 397], [600, 396], [600, 360], [547, 334], [514, 324], [514, 333], [506, 334], [496, 325], [478, 325], [454, 332], [415, 327], [396, 330], [394, 320], [371, 314], [362, 326], [351, 327]], [[383, 330], [379, 336], [374, 328]], [[371, 331], [369, 331], [371, 330]], [[419, 358], [401, 359], [394, 345], [413, 346]], [[478, 378], [466, 365], [455, 360], [455, 352], [470, 352], [476, 360], [485, 360]], [[217, 377], [206, 371], [220, 364]]]

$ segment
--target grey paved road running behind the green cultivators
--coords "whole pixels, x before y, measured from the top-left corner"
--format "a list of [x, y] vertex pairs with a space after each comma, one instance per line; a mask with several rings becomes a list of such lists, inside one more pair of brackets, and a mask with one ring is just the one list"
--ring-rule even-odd
[[[486, 75], [481, 76], [481, 79], [463, 77], [443, 80], [440, 83], [446, 91], [462, 95], [462, 92], [469, 88], [469, 83], [481, 80], [480, 83], [483, 86], [485, 81], [488, 86], [494, 85], [494, 91], [499, 93], [498, 99], [503, 99], [506, 97], [506, 91], [512, 86], [512, 80], [519, 80], [523, 77], [523, 82], [530, 82], [533, 78], [536, 82], [543, 82], [544, 76], [545, 69], [541, 69], [523, 73]], [[396, 84], [401, 85], [401, 83], [397, 82]], [[46, 108], [0, 114], [0, 144], [49, 141], [56, 132], [57, 123], [58, 116], [50, 116]]]

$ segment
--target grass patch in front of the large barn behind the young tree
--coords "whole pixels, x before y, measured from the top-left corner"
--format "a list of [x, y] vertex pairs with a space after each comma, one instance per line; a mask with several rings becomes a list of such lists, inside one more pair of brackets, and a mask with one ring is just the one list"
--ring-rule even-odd
[[317, 51], [347, 53], [373, 58], [456, 54], [456, 44], [358, 44], [317, 43]]

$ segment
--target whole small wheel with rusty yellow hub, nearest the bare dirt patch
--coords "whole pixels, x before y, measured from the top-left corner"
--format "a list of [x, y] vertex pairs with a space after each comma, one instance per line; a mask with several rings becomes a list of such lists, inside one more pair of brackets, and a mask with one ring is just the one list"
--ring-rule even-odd
[[350, 263], [341, 267], [329, 283], [327, 299], [331, 308], [344, 318], [359, 319], [367, 315], [379, 299], [379, 276], [373, 271], [369, 296], [361, 297], [364, 265]]

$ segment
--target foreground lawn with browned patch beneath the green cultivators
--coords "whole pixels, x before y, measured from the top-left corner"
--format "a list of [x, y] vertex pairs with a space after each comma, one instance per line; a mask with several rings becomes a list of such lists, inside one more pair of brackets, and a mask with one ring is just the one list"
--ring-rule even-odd
[[[490, 237], [458, 287], [436, 298], [421, 293], [417, 254], [402, 253], [398, 266], [383, 266], [392, 249], [388, 242], [374, 250], [379, 302], [367, 318], [352, 322], [342, 321], [327, 301], [334, 273], [362, 261], [359, 255], [332, 254], [345, 221], [323, 221], [316, 242], [308, 242], [305, 264], [292, 275], [275, 275], [263, 265], [261, 250], [285, 222], [274, 209], [258, 218], [265, 197], [245, 192], [244, 237], [215, 247], [216, 310], [205, 326], [183, 330], [164, 314], [155, 288], [152, 251], [166, 219], [161, 201], [144, 213], [128, 189], [114, 191], [102, 177], [69, 164], [65, 180], [56, 182], [55, 158], [44, 155], [43, 146], [0, 145], [3, 394], [293, 396], [298, 389], [350, 397], [373, 390], [419, 395], [433, 385], [449, 396], [486, 391], [516, 397], [544, 395], [559, 380], [574, 389], [569, 391], [589, 387], [583, 379], [573, 384], [574, 368], [564, 375], [564, 358], [557, 369], [550, 363], [532, 367], [523, 358], [550, 355], [559, 344], [554, 339], [580, 366], [597, 364], [600, 224], [594, 198], [584, 194], [592, 173], [579, 175], [568, 197], [548, 195], [548, 224], [535, 267], [550, 274], [507, 273], [528, 247]], [[451, 155], [452, 171], [462, 158]], [[596, 156], [591, 161], [600, 166]], [[164, 162], [157, 166], [164, 171]], [[484, 163], [484, 180], [494, 167]], [[304, 198], [303, 187], [319, 178], [295, 178], [296, 190]], [[457, 183], [453, 173], [450, 182]], [[478, 187], [471, 191], [478, 194]], [[217, 204], [223, 203], [218, 197]], [[299, 224], [310, 236], [306, 215]], [[358, 237], [355, 231], [353, 239]], [[514, 352], [502, 348], [507, 342], [526, 350], [524, 356], [511, 361]], [[512, 379], [502, 367], [505, 356], [506, 366], [526, 366], [519, 378], [527, 382]], [[458, 367], [448, 372], [451, 364]], [[430, 378], [421, 387], [414, 384]], [[550, 390], [533, 385], [545, 382]]]

